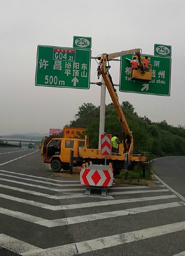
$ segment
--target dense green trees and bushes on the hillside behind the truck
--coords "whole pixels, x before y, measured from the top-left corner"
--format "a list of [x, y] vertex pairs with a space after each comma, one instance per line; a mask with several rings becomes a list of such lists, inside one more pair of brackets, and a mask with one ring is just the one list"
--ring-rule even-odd
[[[167, 121], [152, 122], [148, 117], [139, 117], [135, 108], [128, 101], [121, 105], [130, 131], [133, 131], [134, 154], [144, 154], [150, 157], [163, 157], [185, 155], [185, 129], [184, 126], [174, 127]], [[99, 107], [92, 103], [84, 103], [76, 114], [77, 119], [72, 120], [69, 127], [87, 128], [84, 135], [89, 136], [89, 146], [98, 148], [99, 133]], [[122, 140], [121, 123], [119, 122], [113, 104], [105, 106], [105, 132], [118, 134]], [[138, 177], [137, 177], [138, 178]]]

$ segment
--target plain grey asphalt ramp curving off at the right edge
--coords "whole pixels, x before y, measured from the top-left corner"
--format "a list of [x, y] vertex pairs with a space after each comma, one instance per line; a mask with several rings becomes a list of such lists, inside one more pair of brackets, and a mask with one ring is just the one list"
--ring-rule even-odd
[[164, 157], [153, 162], [154, 173], [185, 197], [185, 156]]

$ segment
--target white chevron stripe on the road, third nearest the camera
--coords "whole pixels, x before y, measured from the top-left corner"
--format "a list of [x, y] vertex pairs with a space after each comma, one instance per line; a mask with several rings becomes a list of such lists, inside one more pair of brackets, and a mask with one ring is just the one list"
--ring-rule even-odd
[[0, 194], [1, 198], [12, 200], [19, 203], [29, 204], [33, 206], [37, 206], [44, 209], [49, 210], [68, 210], [68, 209], [80, 209], [80, 208], [88, 208], [88, 207], [96, 207], [102, 205], [114, 205], [114, 204], [123, 204], [123, 203], [133, 203], [133, 202], [142, 202], [142, 201], [152, 201], [152, 200], [160, 200], [160, 199], [169, 199], [176, 198], [175, 195], [169, 196], [158, 196], [158, 197], [144, 197], [144, 198], [130, 198], [130, 199], [118, 199], [118, 200], [107, 200], [101, 202], [90, 202], [90, 203], [81, 203], [81, 204], [66, 204], [66, 205], [50, 205], [44, 204], [40, 202], [35, 202], [33, 200], [27, 200], [23, 198], [12, 197], [5, 194]]

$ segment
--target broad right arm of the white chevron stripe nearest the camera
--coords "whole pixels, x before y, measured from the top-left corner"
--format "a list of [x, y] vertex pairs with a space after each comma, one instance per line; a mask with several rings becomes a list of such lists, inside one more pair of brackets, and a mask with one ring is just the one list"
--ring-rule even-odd
[[[66, 244], [62, 246], [56, 246], [47, 248], [47, 251], [42, 252], [42, 256], [60, 255], [60, 256], [73, 256], [91, 251], [110, 248], [117, 245], [122, 245], [130, 242], [141, 241], [148, 238], [154, 238], [158, 236], [165, 236], [165, 234], [174, 233], [185, 230], [185, 221], [176, 222], [172, 224], [156, 226], [137, 231], [131, 231], [127, 233], [115, 234], [113, 236], [102, 237], [83, 242], [77, 242], [72, 244]], [[38, 253], [29, 251], [27, 254], [36, 256]]]

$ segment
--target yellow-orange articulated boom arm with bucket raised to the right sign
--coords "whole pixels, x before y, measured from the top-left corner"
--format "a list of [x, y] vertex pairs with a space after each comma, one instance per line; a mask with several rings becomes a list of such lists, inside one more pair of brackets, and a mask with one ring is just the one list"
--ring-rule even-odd
[[[133, 50], [122, 51], [122, 52], [117, 52], [117, 53], [112, 53], [112, 54], [102, 54], [101, 57], [99, 57], [100, 61], [99, 61], [99, 65], [97, 68], [98, 79], [102, 75], [105, 85], [109, 91], [109, 94], [110, 94], [113, 104], [115, 106], [116, 112], [118, 114], [119, 121], [122, 123], [122, 135], [123, 135], [123, 146], [124, 146], [122, 153], [128, 153], [128, 156], [133, 155], [133, 147], [134, 147], [133, 134], [128, 127], [127, 121], [125, 119], [125, 116], [123, 114], [123, 111], [122, 111], [121, 106], [118, 101], [117, 91], [114, 88], [112, 77], [109, 73], [109, 69], [111, 68], [109, 66], [109, 61], [113, 60], [114, 58], [117, 58], [117, 57], [135, 53], [138, 56], [140, 70], [132, 71], [131, 76], [133, 76], [133, 80], [150, 81], [151, 80], [151, 77], [150, 77], [151, 70], [149, 72], [144, 71], [144, 64], [143, 64], [143, 61], [141, 58], [140, 51], [141, 51], [141, 49], [133, 49]], [[107, 66], [107, 64], [108, 64], [108, 66]], [[136, 79], [134, 77], [134, 75], [135, 75], [134, 72], [137, 72]]]

